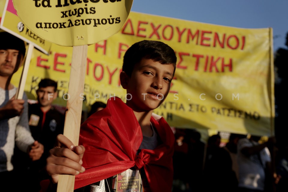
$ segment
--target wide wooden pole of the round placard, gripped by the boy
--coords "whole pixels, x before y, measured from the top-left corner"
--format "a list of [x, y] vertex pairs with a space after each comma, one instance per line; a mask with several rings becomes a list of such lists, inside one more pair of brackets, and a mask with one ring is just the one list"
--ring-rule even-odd
[[[82, 113], [80, 94], [84, 90], [88, 45], [73, 46], [64, 135], [78, 145]], [[57, 192], [73, 192], [75, 176], [59, 175]]]

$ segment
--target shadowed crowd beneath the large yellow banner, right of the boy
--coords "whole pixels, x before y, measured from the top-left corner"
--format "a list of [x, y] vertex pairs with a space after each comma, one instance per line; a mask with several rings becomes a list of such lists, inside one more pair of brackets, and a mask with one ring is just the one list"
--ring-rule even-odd
[[283, 156], [274, 136], [230, 134], [223, 144], [215, 134], [205, 144], [199, 139], [191, 142], [191, 132], [199, 134], [176, 129], [173, 192], [287, 190], [287, 147]]

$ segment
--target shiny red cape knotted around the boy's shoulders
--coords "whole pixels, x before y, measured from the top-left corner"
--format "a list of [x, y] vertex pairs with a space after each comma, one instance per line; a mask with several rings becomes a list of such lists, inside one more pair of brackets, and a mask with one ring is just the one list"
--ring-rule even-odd
[[108, 100], [107, 107], [90, 116], [80, 128], [79, 145], [85, 147], [86, 171], [75, 177], [75, 189], [121, 173], [131, 167], [145, 170], [152, 192], [171, 191], [173, 182], [174, 134], [164, 120], [151, 117], [161, 139], [154, 150], [143, 149], [143, 140], [134, 112], [120, 98]]

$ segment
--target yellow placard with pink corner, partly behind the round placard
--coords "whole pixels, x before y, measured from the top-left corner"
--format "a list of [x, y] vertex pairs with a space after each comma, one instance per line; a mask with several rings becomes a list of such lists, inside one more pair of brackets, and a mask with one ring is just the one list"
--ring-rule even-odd
[[6, 0], [3, 8], [0, 28], [15, 35], [23, 41], [26, 41], [29, 44], [33, 44], [37, 49], [41, 50], [45, 54], [49, 54], [51, 42], [41, 38], [22, 23], [13, 6], [12, 0]]

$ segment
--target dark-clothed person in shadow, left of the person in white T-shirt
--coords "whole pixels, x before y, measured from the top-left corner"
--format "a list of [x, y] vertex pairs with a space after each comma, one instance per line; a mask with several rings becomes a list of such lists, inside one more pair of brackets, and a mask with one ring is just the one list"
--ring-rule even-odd
[[208, 139], [204, 166], [203, 191], [237, 191], [237, 178], [232, 170], [232, 160], [225, 149], [220, 147], [220, 135]]

